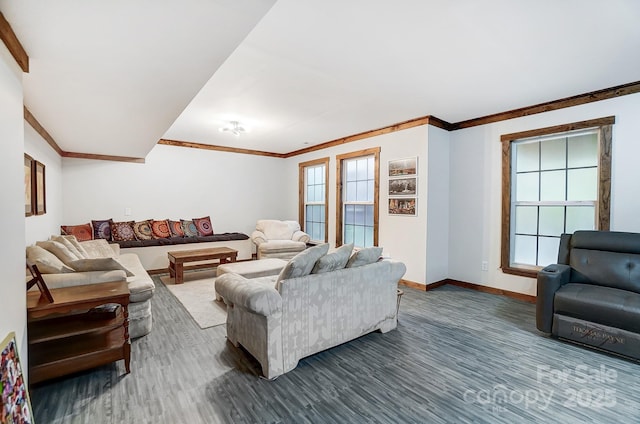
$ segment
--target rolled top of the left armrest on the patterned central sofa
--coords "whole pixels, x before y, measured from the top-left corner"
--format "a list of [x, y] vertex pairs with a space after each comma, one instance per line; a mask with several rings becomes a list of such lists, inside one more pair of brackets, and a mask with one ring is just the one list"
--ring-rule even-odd
[[241, 306], [265, 317], [282, 311], [282, 297], [275, 288], [253, 284], [232, 272], [216, 278], [216, 292], [229, 306]]

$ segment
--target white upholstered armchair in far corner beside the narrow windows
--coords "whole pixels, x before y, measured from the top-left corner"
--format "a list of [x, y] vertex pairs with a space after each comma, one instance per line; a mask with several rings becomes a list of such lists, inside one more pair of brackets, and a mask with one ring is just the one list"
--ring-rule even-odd
[[280, 258], [289, 260], [307, 248], [309, 234], [300, 231], [296, 221], [261, 219], [251, 233], [258, 259]]

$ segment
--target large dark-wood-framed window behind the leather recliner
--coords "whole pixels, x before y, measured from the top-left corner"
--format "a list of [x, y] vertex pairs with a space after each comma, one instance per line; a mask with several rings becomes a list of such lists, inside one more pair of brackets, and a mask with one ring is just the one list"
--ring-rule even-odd
[[560, 235], [608, 230], [614, 118], [502, 136], [504, 272], [555, 263]]

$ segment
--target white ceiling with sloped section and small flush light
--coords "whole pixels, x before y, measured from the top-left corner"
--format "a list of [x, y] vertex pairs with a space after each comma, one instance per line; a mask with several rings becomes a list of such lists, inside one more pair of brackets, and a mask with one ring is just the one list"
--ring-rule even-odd
[[[637, 0], [0, 0], [0, 10], [31, 60], [25, 105], [71, 152], [143, 157], [166, 138], [287, 153], [640, 80]], [[218, 131], [231, 120], [251, 131]]]

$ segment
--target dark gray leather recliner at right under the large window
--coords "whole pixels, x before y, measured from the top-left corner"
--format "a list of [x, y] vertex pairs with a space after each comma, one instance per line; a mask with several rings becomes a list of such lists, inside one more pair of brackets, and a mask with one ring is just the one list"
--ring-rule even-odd
[[538, 273], [538, 330], [640, 359], [640, 234], [576, 231]]

